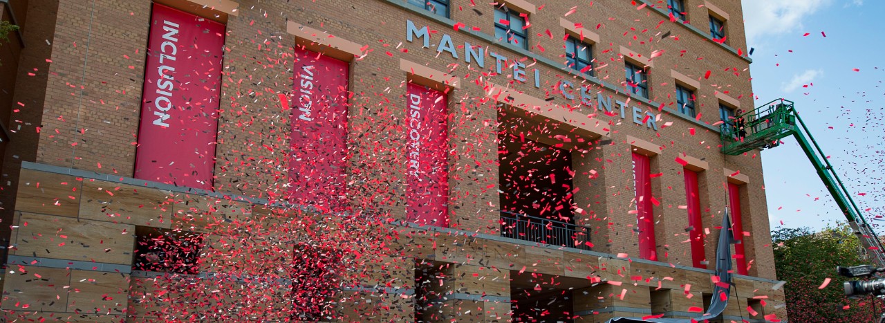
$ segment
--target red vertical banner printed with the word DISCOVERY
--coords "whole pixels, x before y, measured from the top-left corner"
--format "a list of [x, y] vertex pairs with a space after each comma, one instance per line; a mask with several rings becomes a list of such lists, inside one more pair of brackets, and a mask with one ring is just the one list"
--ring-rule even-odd
[[406, 216], [420, 225], [449, 227], [447, 100], [443, 92], [409, 83], [406, 121]]

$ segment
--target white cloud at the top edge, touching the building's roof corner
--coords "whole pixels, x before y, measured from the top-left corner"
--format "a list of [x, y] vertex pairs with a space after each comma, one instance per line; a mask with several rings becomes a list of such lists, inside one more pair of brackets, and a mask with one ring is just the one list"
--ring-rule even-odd
[[[761, 35], [780, 35], [802, 27], [802, 20], [830, 4], [832, 0], [743, 0], [747, 41]], [[863, 0], [853, 0], [863, 4]], [[859, 5], [858, 4], [858, 5]]]

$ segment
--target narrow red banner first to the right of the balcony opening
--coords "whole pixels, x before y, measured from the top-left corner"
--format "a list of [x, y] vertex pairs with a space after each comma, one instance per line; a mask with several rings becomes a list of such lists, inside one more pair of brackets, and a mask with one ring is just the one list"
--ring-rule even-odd
[[636, 225], [639, 228], [639, 257], [658, 260], [655, 219], [651, 206], [651, 161], [633, 153], [633, 187], [636, 191]]

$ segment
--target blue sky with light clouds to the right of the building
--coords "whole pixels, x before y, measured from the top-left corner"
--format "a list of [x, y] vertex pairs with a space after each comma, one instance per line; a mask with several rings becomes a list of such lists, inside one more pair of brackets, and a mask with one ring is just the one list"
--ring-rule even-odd
[[[874, 219], [885, 214], [885, 1], [742, 4], [755, 49], [750, 73], [756, 104], [779, 97], [796, 102], [855, 202], [869, 209], [867, 220], [885, 233], [885, 219]], [[772, 229], [781, 221], [782, 227], [818, 230], [844, 220], [797, 142], [783, 142], [762, 153]]]

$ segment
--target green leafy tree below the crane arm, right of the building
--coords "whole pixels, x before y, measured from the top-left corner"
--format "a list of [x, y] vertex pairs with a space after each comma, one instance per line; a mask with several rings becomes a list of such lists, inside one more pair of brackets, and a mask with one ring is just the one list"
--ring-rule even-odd
[[[873, 321], [870, 296], [846, 297], [843, 282], [851, 279], [835, 271], [836, 265], [870, 264], [848, 225], [827, 227], [818, 233], [807, 227], [778, 228], [772, 232], [772, 240], [778, 279], [787, 281], [784, 293], [790, 321]], [[819, 288], [827, 278], [831, 279], [829, 284]], [[881, 299], [875, 302], [881, 311]]]

